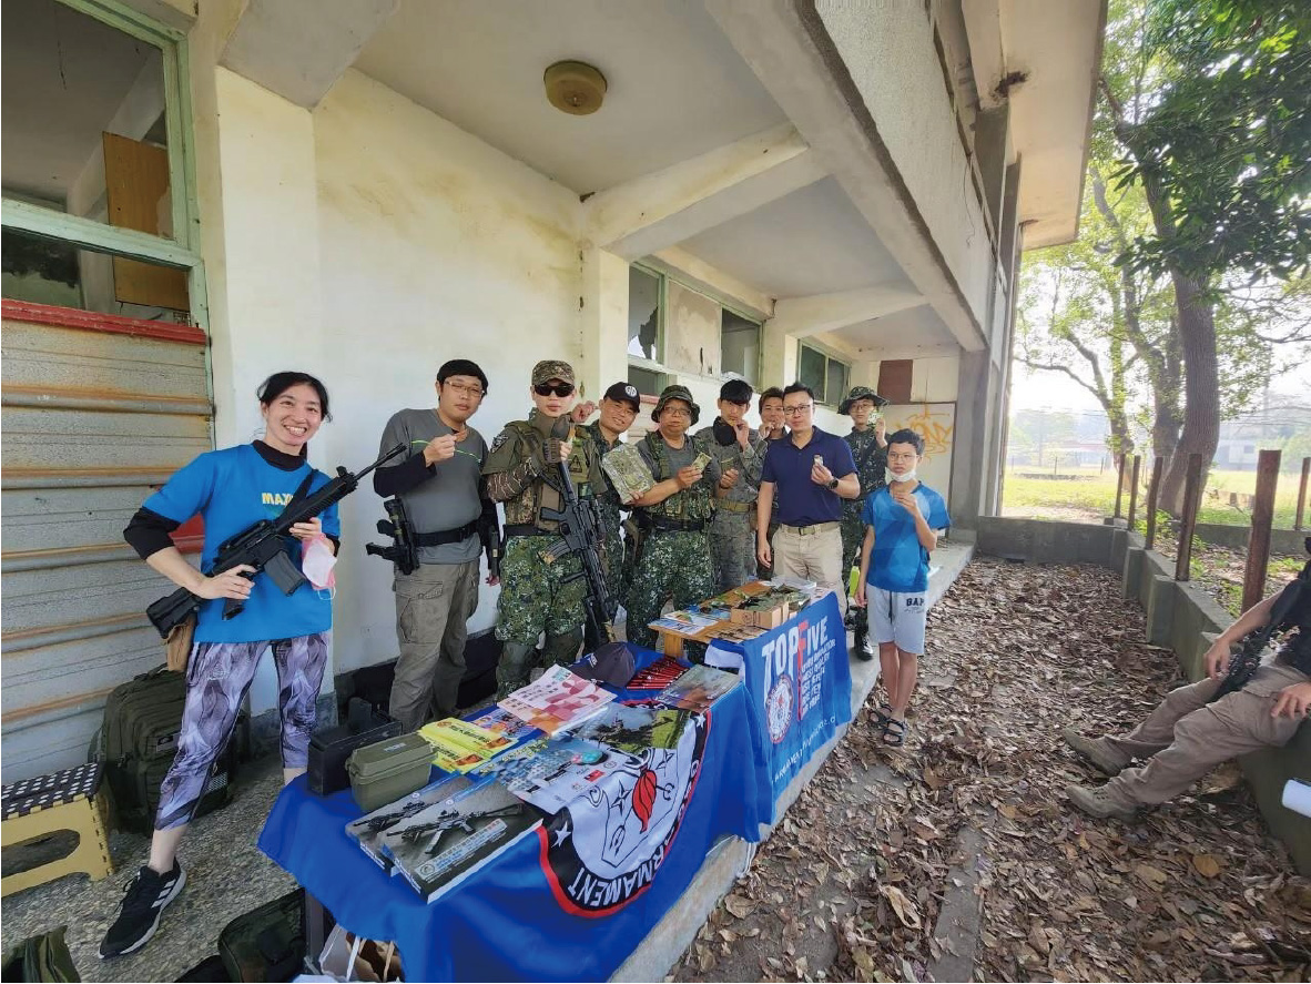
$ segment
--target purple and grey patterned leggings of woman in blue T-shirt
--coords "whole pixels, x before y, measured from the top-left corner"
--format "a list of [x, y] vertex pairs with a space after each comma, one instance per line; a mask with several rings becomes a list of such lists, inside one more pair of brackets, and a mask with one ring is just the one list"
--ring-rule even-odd
[[237, 711], [266, 648], [273, 649], [273, 663], [278, 669], [282, 765], [284, 769], [305, 768], [330, 639], [332, 632], [315, 632], [260, 643], [197, 643], [191, 648], [182, 731], [173, 765], [160, 783], [156, 830], [191, 821], [210, 778], [210, 766], [232, 737]]

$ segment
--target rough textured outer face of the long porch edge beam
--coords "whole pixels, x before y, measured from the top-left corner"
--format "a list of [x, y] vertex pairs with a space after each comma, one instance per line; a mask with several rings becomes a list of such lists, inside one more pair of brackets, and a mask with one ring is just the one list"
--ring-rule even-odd
[[991, 247], [923, 4], [817, 0], [815, 9], [987, 336]]

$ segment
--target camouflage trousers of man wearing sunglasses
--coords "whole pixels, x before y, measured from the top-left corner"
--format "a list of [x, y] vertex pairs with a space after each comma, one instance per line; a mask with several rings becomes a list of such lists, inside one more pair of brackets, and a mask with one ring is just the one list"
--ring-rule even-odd
[[573, 554], [545, 563], [541, 551], [553, 537], [510, 537], [501, 559], [501, 597], [496, 604], [496, 638], [536, 646], [538, 635], [582, 631], [587, 581], [565, 579], [582, 571]]

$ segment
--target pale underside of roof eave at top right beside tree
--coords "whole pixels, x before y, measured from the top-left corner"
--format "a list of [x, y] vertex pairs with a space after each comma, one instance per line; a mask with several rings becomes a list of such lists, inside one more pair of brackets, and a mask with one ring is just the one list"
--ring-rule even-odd
[[[1004, 68], [1028, 75], [1009, 91], [1020, 222], [1033, 223], [1024, 248], [1068, 243], [1079, 231], [1106, 4], [1003, 0], [1000, 13]], [[995, 85], [981, 84], [981, 94]]]

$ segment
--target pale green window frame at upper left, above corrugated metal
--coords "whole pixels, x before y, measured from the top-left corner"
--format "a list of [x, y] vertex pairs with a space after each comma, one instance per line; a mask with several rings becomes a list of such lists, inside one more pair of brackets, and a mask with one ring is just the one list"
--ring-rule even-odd
[[56, 3], [160, 50], [164, 68], [169, 188], [173, 189], [170, 195], [173, 237], [117, 228], [81, 215], [69, 215], [9, 197], [0, 201], [3, 205], [0, 226], [81, 249], [186, 270], [191, 319], [201, 328], [206, 328], [208, 306], [205, 265], [199, 255], [199, 209], [195, 195], [186, 35], [115, 0], [56, 0]]

